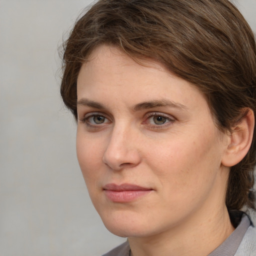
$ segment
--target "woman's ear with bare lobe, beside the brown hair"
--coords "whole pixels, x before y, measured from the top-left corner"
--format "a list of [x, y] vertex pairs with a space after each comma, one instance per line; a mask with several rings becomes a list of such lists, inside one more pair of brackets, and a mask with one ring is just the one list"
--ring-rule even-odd
[[254, 129], [254, 113], [248, 108], [239, 122], [232, 127], [228, 144], [222, 157], [224, 166], [233, 166], [240, 162], [250, 148]]

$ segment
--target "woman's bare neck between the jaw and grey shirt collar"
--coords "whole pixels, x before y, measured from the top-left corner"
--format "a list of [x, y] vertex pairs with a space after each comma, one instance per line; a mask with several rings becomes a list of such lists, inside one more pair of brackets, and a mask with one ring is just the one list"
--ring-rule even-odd
[[[214, 203], [213, 203], [214, 204]], [[207, 205], [209, 206], [209, 205]], [[209, 209], [209, 208], [208, 208]], [[132, 256], [205, 256], [234, 230], [225, 205], [150, 237], [129, 237]]]

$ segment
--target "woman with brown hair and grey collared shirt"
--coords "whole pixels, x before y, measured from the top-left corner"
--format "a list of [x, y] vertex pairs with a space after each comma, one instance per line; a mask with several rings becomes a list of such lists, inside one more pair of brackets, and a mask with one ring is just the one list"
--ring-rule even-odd
[[99, 0], [64, 47], [90, 198], [128, 237], [105, 255], [256, 255], [256, 47], [239, 11]]

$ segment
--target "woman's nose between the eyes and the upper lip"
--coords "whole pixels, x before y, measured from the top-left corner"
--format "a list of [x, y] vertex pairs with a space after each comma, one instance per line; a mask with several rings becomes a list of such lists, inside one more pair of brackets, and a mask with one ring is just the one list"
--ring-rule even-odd
[[103, 154], [103, 162], [113, 170], [138, 165], [141, 159], [137, 138], [138, 134], [131, 128], [113, 128]]

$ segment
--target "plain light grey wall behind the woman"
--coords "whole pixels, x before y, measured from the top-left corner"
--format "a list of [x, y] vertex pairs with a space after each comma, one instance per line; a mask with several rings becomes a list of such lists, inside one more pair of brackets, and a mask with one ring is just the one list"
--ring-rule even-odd
[[[96, 256], [124, 240], [91, 205], [59, 96], [57, 47], [90, 2], [0, 0], [0, 256]], [[235, 2], [256, 31], [256, 0]]]

